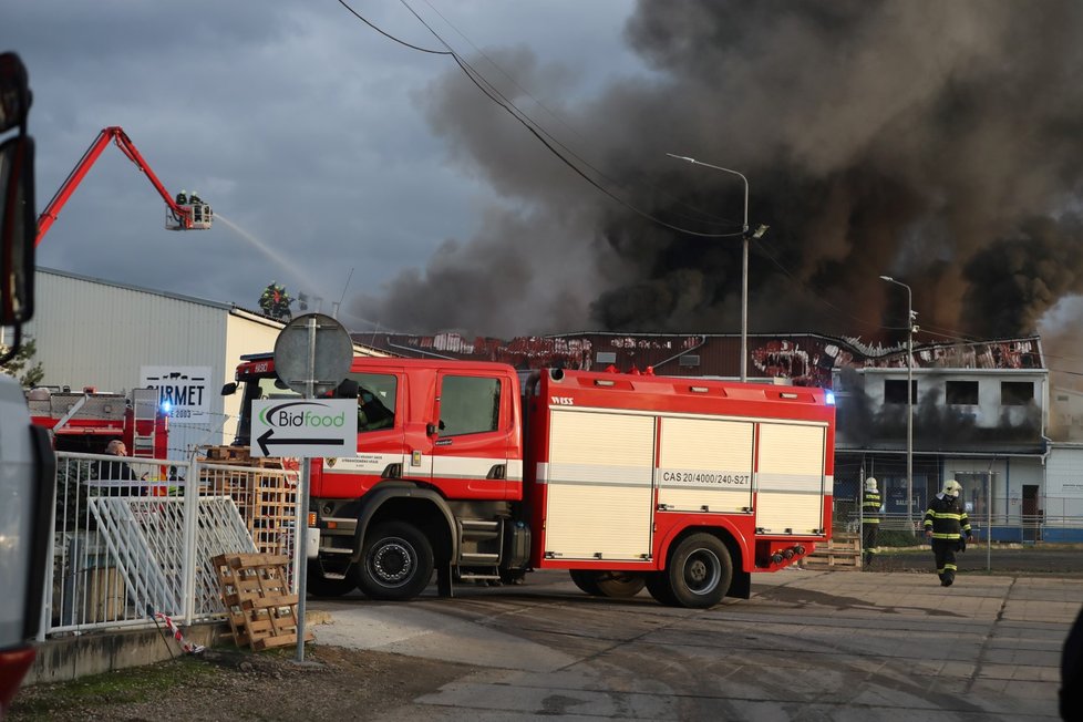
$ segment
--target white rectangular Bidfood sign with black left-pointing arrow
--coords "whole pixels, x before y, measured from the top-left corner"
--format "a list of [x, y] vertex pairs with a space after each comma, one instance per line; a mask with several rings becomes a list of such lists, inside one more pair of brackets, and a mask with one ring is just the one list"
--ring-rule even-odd
[[264, 399], [252, 402], [252, 456], [353, 456], [353, 399]]

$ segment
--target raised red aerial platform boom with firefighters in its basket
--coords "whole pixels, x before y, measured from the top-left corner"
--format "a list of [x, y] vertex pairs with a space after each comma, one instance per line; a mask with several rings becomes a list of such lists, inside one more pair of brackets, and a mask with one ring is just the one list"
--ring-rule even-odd
[[121, 148], [127, 158], [136, 165], [136, 167], [146, 174], [146, 177], [154, 185], [155, 190], [165, 200], [168, 209], [166, 210], [166, 221], [165, 227], [169, 230], [192, 230], [192, 229], [207, 229], [210, 228], [210, 223], [213, 220], [214, 214], [210, 206], [199, 200], [198, 197], [193, 196], [193, 198], [186, 198], [183, 195], [174, 199], [169, 195], [169, 192], [165, 189], [158, 177], [154, 175], [154, 171], [147, 165], [147, 162], [143, 158], [143, 155], [136, 149], [132, 140], [127, 136], [127, 133], [123, 128], [117, 126], [110, 126], [102, 128], [102, 132], [97, 134], [94, 142], [91, 143], [90, 147], [83, 154], [83, 157], [75, 165], [74, 169], [68, 175], [68, 178], [60, 186], [56, 195], [53, 199], [49, 202], [45, 209], [38, 216], [38, 238], [35, 245], [41, 244], [41, 239], [44, 238], [45, 234], [49, 233], [49, 228], [56, 220], [56, 216], [60, 214], [61, 208], [68, 203], [75, 188], [82, 183], [86, 173], [90, 171], [94, 162], [109, 145], [110, 141], [116, 144], [116, 147]]

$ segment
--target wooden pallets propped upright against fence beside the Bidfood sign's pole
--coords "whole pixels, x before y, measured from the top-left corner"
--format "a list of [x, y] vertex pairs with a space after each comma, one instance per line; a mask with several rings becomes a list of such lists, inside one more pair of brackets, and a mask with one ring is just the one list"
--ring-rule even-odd
[[[252, 651], [297, 643], [297, 595], [289, 592], [289, 558], [223, 554], [214, 558], [226, 617], [238, 647]], [[305, 641], [312, 641], [312, 632]]]

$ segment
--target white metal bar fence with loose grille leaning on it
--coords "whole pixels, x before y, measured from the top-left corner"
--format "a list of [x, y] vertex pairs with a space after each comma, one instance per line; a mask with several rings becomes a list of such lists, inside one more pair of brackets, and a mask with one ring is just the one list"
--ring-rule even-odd
[[213, 559], [293, 559], [296, 471], [56, 454], [56, 506], [41, 639], [225, 616]]

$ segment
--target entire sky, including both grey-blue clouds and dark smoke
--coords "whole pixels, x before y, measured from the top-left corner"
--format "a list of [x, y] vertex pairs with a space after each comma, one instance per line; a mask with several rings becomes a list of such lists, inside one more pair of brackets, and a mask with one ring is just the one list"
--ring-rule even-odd
[[[39, 205], [120, 125], [219, 216], [164, 230], [110, 148], [40, 262], [247, 306], [278, 280], [324, 310], [353, 269], [359, 331], [735, 332], [742, 184], [673, 152], [743, 172], [771, 226], [752, 332], [898, 342], [888, 274], [919, 340], [1042, 330], [1077, 368], [1079, 2], [408, 1], [618, 200], [450, 58], [334, 0], [0, 0]], [[402, 2], [351, 4], [440, 48]]]

